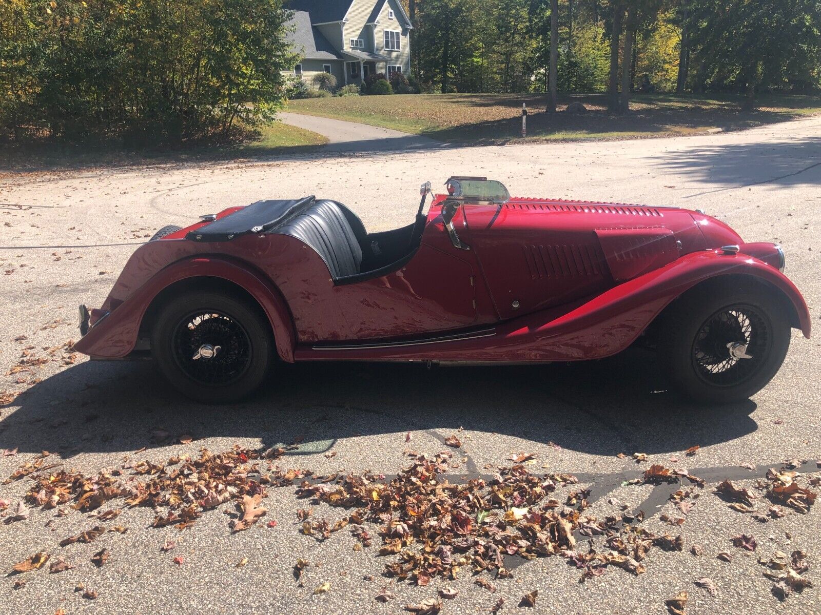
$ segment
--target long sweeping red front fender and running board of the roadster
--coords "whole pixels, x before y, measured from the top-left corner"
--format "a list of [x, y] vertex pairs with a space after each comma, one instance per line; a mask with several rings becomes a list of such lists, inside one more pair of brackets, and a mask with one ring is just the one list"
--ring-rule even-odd
[[548, 308], [504, 322], [493, 335], [419, 345], [296, 349], [303, 360], [432, 360], [466, 362], [576, 361], [621, 352], [658, 313], [687, 289], [722, 275], [754, 276], [780, 289], [796, 308], [800, 329], [810, 336], [810, 314], [798, 289], [773, 266], [745, 254], [710, 250], [608, 289], [588, 300]]

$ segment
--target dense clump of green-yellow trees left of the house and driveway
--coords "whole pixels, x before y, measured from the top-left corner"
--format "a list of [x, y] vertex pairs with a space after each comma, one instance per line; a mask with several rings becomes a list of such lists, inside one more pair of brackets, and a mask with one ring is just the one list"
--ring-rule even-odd
[[5, 134], [180, 143], [273, 121], [282, 0], [0, 0]]

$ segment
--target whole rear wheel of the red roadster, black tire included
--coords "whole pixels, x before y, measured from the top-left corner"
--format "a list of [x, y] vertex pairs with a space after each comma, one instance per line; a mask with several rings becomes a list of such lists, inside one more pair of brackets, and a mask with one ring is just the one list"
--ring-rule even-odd
[[159, 370], [182, 394], [204, 403], [254, 393], [268, 376], [273, 353], [271, 327], [259, 306], [218, 291], [172, 298], [151, 331]]

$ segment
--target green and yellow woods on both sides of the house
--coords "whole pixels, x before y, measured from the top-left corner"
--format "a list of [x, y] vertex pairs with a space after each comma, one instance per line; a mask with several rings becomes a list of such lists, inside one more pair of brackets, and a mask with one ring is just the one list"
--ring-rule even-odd
[[[330, 1], [330, 0], [328, 0]], [[818, 93], [821, 0], [405, 0], [423, 92]], [[231, 135], [300, 61], [282, 0], [0, 0], [0, 140]]]

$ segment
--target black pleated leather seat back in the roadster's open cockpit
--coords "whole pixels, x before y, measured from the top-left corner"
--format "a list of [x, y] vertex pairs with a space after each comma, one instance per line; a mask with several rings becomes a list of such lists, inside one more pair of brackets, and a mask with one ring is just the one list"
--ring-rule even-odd
[[342, 208], [333, 201], [316, 201], [276, 232], [296, 237], [314, 248], [334, 280], [360, 272], [362, 248]]

